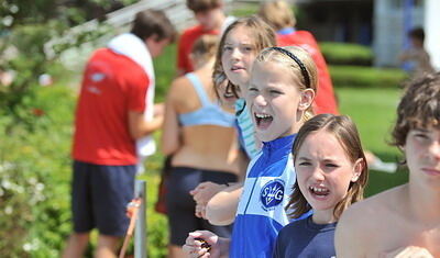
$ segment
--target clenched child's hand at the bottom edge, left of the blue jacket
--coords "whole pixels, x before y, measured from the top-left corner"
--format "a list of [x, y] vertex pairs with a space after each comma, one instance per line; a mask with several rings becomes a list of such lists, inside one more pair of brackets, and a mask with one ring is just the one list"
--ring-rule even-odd
[[183, 246], [184, 253], [188, 257], [220, 257], [219, 237], [212, 232], [197, 231], [188, 234], [185, 245]]

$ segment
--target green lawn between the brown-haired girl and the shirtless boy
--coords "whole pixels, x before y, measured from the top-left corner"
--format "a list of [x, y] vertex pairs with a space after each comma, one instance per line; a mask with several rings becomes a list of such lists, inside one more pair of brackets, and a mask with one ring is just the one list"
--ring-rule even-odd
[[[340, 112], [350, 115], [356, 123], [364, 149], [373, 152], [386, 161], [402, 159], [399, 150], [387, 145], [399, 92], [399, 89], [337, 89]], [[399, 169], [395, 173], [371, 170], [366, 195], [405, 183], [407, 177], [406, 169]]]

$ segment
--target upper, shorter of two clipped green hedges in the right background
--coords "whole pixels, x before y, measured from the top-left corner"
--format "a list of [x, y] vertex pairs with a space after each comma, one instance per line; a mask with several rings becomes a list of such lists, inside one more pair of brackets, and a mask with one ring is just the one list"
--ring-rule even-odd
[[322, 55], [330, 65], [371, 66], [373, 52], [370, 47], [359, 44], [321, 42]]

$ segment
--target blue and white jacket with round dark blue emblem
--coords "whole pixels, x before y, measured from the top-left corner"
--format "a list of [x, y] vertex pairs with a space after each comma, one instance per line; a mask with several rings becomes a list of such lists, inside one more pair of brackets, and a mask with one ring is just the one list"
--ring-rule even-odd
[[295, 183], [292, 145], [295, 135], [263, 143], [251, 160], [237, 211], [231, 258], [268, 258], [278, 232], [289, 223], [284, 209]]

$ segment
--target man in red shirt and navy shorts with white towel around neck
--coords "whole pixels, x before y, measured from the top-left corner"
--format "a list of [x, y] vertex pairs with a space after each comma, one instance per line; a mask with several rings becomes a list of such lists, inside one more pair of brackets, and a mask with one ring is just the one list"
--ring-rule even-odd
[[148, 98], [154, 93], [151, 58], [174, 35], [162, 11], [142, 11], [131, 33], [111, 40], [87, 63], [73, 144], [74, 234], [63, 257], [81, 257], [92, 228], [99, 231], [96, 257], [116, 257], [129, 225], [125, 205], [134, 193], [135, 141], [160, 128], [163, 121], [144, 115], [154, 108]]

